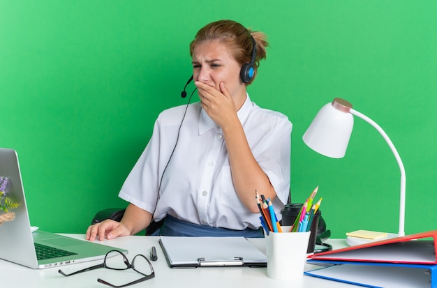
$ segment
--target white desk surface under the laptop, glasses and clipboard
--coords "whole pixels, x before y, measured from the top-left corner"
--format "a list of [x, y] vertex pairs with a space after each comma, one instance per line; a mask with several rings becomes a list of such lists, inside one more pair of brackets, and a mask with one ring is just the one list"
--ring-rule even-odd
[[[64, 234], [74, 238], [84, 239], [82, 234]], [[165, 256], [158, 243], [158, 236], [125, 236], [115, 238], [111, 241], [101, 243], [114, 247], [129, 250], [128, 259], [131, 260], [137, 254], [143, 254], [149, 258], [151, 246], [156, 247], [158, 261], [151, 262], [155, 270], [155, 278], [147, 280], [131, 287], [202, 287], [223, 288], [223, 287], [323, 287], [341, 288], [356, 287], [345, 283], [323, 280], [304, 275], [302, 282], [274, 280], [267, 277], [267, 268], [250, 267], [202, 267], [202, 268], [170, 268], [165, 261]], [[251, 241], [258, 249], [265, 252], [264, 239], [253, 238]], [[330, 239], [327, 241], [334, 248], [346, 246], [345, 239]], [[66, 273], [80, 270], [101, 261], [84, 262], [68, 266], [61, 266]], [[317, 268], [311, 264], [306, 264], [306, 270]], [[99, 268], [94, 271], [64, 277], [58, 273], [60, 267], [34, 270], [17, 264], [12, 264], [0, 260], [1, 287], [34, 287], [34, 288], [59, 288], [59, 287], [108, 287], [97, 282], [97, 278], [102, 278], [114, 285], [121, 285], [140, 278], [138, 273], [129, 269], [127, 271], [111, 271], [106, 268]]]

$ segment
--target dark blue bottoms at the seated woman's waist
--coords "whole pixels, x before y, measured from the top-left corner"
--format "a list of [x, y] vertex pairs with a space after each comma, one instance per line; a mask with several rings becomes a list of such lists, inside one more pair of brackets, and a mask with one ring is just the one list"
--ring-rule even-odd
[[161, 229], [156, 230], [152, 236], [244, 236], [246, 238], [263, 238], [264, 232], [262, 232], [262, 228], [256, 230], [251, 228], [246, 228], [244, 230], [232, 230], [221, 227], [197, 225], [191, 222], [178, 220], [175, 217], [167, 215]]

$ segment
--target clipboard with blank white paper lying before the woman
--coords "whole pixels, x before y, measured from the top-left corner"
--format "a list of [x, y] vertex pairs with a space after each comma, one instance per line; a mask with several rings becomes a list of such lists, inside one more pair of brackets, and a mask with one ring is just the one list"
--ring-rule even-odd
[[267, 257], [244, 237], [161, 236], [170, 268], [267, 266]]

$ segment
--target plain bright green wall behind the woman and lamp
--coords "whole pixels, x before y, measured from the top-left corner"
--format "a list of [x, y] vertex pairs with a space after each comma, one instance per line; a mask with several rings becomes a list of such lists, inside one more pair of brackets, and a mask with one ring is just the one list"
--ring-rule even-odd
[[374, 128], [355, 118], [342, 159], [302, 142], [340, 97], [399, 151], [406, 234], [436, 229], [436, 15], [434, 0], [0, 0], [0, 146], [20, 156], [31, 224], [83, 233], [96, 211], [126, 206], [117, 194], [156, 116], [187, 101], [188, 44], [232, 19], [269, 36], [249, 93], [293, 123], [292, 202], [319, 185], [333, 237], [397, 233], [399, 167]]

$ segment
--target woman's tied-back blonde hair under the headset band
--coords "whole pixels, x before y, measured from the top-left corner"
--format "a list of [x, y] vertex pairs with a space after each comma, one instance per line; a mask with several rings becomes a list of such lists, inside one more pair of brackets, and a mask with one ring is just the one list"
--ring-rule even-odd
[[[195, 46], [207, 40], [218, 40], [226, 45], [232, 58], [241, 66], [251, 62], [253, 40], [255, 40], [255, 65], [253, 67], [254, 75], [251, 80], [253, 82], [258, 66], [260, 66], [260, 60], [265, 59], [267, 56], [266, 47], [268, 43], [265, 33], [251, 31], [251, 29], [246, 29], [242, 24], [232, 20], [218, 20], [205, 25], [198, 31], [194, 40], [190, 43], [191, 56], [193, 56]], [[251, 84], [251, 82], [248, 84]]]

